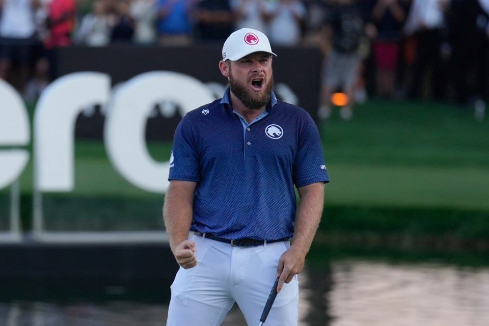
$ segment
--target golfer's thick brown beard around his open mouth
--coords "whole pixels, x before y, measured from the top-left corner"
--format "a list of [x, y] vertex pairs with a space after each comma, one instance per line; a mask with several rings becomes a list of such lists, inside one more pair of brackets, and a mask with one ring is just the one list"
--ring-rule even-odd
[[248, 84], [234, 79], [232, 71], [229, 71], [229, 89], [233, 94], [250, 110], [260, 110], [268, 104], [271, 97], [271, 90], [274, 87], [274, 75], [270, 75], [265, 87], [260, 92], [255, 92], [248, 88]]

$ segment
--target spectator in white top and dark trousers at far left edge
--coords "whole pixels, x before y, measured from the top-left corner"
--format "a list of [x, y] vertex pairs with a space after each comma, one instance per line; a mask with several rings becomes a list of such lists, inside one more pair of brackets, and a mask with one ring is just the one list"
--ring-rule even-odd
[[[37, 0], [0, 0], [0, 78], [21, 93], [31, 73], [37, 42]], [[15, 72], [15, 73], [13, 73]]]

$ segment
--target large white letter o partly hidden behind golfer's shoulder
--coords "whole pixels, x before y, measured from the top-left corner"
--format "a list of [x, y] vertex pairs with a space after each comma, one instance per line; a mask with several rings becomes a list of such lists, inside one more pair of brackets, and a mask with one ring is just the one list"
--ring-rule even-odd
[[104, 142], [112, 165], [132, 184], [150, 192], [168, 187], [170, 162], [157, 162], [148, 152], [146, 121], [156, 103], [171, 100], [181, 116], [213, 101], [200, 80], [171, 71], [152, 71], [129, 79], [117, 89], [107, 110]]

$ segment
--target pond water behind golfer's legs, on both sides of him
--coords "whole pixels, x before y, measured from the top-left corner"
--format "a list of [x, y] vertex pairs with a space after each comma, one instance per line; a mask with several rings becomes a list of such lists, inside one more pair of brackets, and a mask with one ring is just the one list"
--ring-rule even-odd
[[[489, 324], [489, 268], [339, 260], [306, 268], [300, 282], [300, 326]], [[126, 301], [0, 303], [0, 326], [161, 326], [167, 308]], [[223, 326], [241, 325], [233, 308]]]

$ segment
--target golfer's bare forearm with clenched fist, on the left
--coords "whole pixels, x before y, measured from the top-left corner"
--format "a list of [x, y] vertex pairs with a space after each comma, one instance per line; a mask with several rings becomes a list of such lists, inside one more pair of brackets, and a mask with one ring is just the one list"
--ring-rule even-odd
[[196, 186], [196, 182], [170, 181], [163, 206], [163, 219], [170, 239], [170, 248], [175, 260], [183, 268], [192, 268], [197, 264], [194, 255], [195, 243], [188, 240]]

